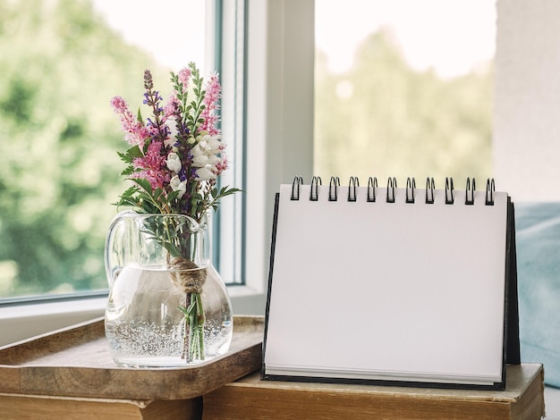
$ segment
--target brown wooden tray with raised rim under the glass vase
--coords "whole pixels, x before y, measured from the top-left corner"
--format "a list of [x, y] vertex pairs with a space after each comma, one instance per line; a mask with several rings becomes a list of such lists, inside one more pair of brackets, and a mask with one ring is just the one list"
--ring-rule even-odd
[[260, 368], [262, 316], [235, 316], [230, 350], [200, 365], [115, 365], [103, 318], [0, 348], [0, 393], [89, 399], [192, 399]]

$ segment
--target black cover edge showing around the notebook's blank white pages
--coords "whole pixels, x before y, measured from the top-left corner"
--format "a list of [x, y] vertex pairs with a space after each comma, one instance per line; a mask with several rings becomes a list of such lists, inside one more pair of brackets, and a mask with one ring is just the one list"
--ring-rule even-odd
[[502, 379], [493, 384], [459, 383], [459, 382], [415, 382], [399, 380], [378, 379], [354, 379], [354, 378], [332, 378], [325, 376], [295, 376], [282, 374], [267, 374], [265, 356], [267, 351], [268, 315], [270, 308], [270, 293], [272, 290], [272, 278], [274, 272], [274, 256], [276, 248], [276, 231], [278, 224], [278, 207], [280, 193], [275, 195], [275, 207], [272, 223], [272, 235], [270, 243], [270, 263], [268, 270], [267, 302], [265, 308], [265, 326], [262, 343], [262, 364], [260, 379], [265, 381], [285, 382], [320, 382], [320, 383], [348, 383], [366, 384], [378, 386], [401, 386], [414, 388], [437, 388], [453, 390], [480, 390], [480, 391], [504, 391], [506, 365], [521, 364], [521, 350], [519, 340], [519, 302], [517, 291], [517, 251], [515, 243], [515, 212], [511, 197], [507, 197], [506, 216], [506, 239], [505, 239], [505, 306], [504, 306], [504, 355], [502, 366]]

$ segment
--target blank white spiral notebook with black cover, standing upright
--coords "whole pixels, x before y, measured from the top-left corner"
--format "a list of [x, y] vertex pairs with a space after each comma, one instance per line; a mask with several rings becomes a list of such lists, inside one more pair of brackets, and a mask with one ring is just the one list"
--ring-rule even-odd
[[263, 379], [504, 389], [518, 324], [513, 203], [493, 180], [276, 194]]

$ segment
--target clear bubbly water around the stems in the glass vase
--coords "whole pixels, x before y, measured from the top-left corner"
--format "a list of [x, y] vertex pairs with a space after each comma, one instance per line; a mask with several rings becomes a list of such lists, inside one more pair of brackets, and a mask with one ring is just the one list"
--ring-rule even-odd
[[[187, 364], [183, 357], [185, 323], [178, 309], [185, 305], [185, 294], [171, 277], [166, 271], [125, 267], [116, 279], [106, 308], [106, 338], [118, 365]], [[209, 275], [201, 298], [206, 315], [205, 357], [195, 363], [225, 354], [233, 333], [233, 315], [223, 283]]]

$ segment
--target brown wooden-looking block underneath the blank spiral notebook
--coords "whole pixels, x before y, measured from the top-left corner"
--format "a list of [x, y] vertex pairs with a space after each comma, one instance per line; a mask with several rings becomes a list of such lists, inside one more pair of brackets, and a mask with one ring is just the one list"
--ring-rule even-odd
[[542, 365], [508, 365], [505, 391], [466, 391], [261, 381], [255, 373], [205, 395], [203, 419], [538, 420], [543, 376]]

